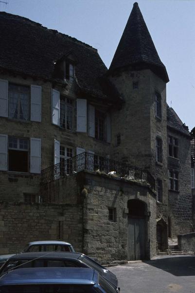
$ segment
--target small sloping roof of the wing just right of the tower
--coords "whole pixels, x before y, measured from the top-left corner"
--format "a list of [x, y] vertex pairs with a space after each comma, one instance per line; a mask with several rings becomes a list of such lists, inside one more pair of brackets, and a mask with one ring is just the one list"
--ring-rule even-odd
[[167, 105], [167, 126], [190, 137], [188, 126], [180, 120], [172, 107]]

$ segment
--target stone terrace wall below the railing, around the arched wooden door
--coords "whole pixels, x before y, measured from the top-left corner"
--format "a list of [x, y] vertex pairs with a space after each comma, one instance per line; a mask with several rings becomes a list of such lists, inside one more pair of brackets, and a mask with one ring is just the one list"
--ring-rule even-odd
[[[130, 199], [146, 204], [146, 258], [156, 254], [156, 198], [147, 185], [86, 172], [84, 200], [84, 253], [100, 262], [127, 259], [127, 228]], [[108, 219], [108, 208], [116, 218]]]

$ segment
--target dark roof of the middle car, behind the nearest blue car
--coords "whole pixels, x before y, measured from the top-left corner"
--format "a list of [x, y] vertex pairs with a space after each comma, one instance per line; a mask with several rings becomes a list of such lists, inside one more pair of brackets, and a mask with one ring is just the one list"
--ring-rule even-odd
[[10, 257], [9, 259], [34, 259], [37, 257], [44, 257], [44, 258], [61, 258], [61, 257], [67, 257], [67, 258], [74, 258], [78, 259], [79, 256], [83, 255], [79, 252], [57, 252], [57, 251], [45, 251], [45, 252], [24, 252], [24, 253], [18, 253]]

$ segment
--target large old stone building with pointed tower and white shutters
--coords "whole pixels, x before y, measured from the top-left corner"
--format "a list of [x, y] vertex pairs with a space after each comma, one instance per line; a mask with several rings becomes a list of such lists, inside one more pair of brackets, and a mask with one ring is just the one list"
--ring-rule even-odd
[[190, 135], [138, 4], [109, 69], [34, 21], [1, 12], [0, 29], [0, 252], [144, 259], [191, 231]]

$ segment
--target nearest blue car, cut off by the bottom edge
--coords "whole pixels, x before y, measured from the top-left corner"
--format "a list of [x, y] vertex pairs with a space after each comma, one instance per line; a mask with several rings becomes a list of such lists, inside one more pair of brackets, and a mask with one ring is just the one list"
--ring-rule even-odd
[[0, 277], [1, 293], [118, 293], [90, 268], [25, 268]]

